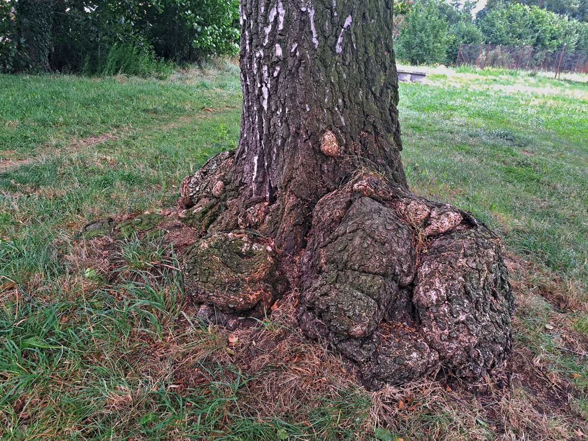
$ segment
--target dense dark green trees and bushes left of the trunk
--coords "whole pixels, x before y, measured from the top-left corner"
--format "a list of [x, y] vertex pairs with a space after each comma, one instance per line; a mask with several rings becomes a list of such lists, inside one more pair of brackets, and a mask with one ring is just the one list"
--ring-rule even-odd
[[14, 18], [0, 18], [0, 30], [18, 42], [0, 44], [0, 61], [31, 61], [0, 64], [5, 71], [35, 65], [111, 74], [116, 64], [116, 72], [136, 75], [156, 69], [156, 58], [193, 62], [238, 51], [238, 0], [11, 0], [0, 7]]

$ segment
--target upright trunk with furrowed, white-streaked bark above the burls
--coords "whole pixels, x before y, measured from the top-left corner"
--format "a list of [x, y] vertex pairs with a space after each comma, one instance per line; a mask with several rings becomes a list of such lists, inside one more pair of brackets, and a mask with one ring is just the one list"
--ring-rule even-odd
[[[360, 164], [406, 186], [400, 162], [392, 1], [241, 2], [240, 209], [288, 253], [312, 209]], [[185, 206], [199, 194], [194, 185]], [[191, 200], [192, 198], [192, 200]]]

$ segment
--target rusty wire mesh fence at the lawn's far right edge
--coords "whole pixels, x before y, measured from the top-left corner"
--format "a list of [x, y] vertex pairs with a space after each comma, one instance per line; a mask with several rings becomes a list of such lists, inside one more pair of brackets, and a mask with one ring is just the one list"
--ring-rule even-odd
[[583, 52], [546, 51], [533, 46], [503, 46], [462, 43], [457, 52], [456, 66], [505, 68], [523, 71], [576, 72], [588, 74], [588, 55]]

